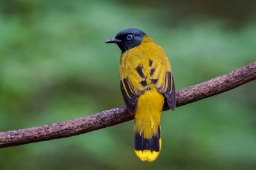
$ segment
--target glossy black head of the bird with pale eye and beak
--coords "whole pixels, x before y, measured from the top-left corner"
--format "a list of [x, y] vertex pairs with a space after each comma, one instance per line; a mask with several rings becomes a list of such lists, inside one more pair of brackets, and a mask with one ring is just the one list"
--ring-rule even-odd
[[122, 52], [125, 52], [140, 45], [145, 35], [140, 29], [128, 28], [117, 33], [115, 38], [110, 38], [106, 43], [116, 43]]

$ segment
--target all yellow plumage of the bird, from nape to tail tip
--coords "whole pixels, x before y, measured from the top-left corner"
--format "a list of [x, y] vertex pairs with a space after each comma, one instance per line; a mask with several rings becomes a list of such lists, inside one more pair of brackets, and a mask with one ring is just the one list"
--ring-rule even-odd
[[[150, 61], [152, 61], [151, 65]], [[141, 77], [136, 69], [138, 66], [142, 66], [142, 72], [145, 77]], [[152, 69], [154, 69], [154, 73], [150, 75], [150, 70]], [[152, 136], [157, 135], [160, 126], [164, 96], [157, 91], [157, 88], [163, 91], [168, 88], [166, 72], [171, 72], [166, 54], [147, 35], [140, 45], [127, 50], [121, 55], [120, 78], [125, 93], [131, 98], [131, 95], [127, 92], [127, 88], [130, 88], [135, 95], [139, 95], [134, 116], [134, 131], [140, 135], [143, 134], [145, 139], [150, 139]], [[124, 79], [129, 80], [128, 87], [125, 86]], [[157, 80], [156, 84], [152, 84], [152, 79]], [[143, 81], [147, 82], [147, 86], [141, 84]], [[161, 146], [161, 138], [159, 139], [159, 145]], [[158, 157], [159, 151], [135, 150], [135, 153], [141, 160], [151, 162]]]

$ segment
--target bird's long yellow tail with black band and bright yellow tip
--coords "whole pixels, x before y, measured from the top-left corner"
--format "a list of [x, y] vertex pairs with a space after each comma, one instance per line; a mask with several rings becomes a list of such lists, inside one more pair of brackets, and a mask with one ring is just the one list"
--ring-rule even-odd
[[134, 115], [135, 153], [142, 161], [156, 160], [161, 150], [160, 116], [164, 97], [157, 91], [146, 91], [138, 98]]

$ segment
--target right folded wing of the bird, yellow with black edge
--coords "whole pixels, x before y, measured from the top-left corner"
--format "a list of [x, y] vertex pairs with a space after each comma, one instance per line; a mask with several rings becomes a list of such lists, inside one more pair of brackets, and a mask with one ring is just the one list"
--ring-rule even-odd
[[150, 61], [150, 79], [157, 91], [164, 95], [169, 108], [174, 110], [176, 106], [175, 86], [170, 62], [164, 52]]

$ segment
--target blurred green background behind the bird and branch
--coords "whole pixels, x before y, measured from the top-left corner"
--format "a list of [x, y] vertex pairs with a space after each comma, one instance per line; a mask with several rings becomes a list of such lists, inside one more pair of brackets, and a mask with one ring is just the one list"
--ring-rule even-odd
[[[175, 86], [256, 59], [255, 1], [0, 1], [0, 131], [124, 105], [120, 50], [138, 27], [161, 45]], [[134, 155], [133, 121], [0, 150], [0, 169], [256, 169], [256, 82], [164, 112], [154, 163]]]

